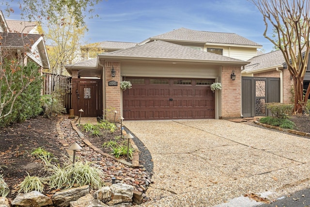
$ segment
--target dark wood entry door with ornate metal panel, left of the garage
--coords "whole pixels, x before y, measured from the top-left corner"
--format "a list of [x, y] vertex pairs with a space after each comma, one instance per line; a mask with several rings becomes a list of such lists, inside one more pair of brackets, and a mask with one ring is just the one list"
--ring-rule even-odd
[[78, 110], [82, 109], [83, 117], [98, 116], [98, 82], [78, 81]]

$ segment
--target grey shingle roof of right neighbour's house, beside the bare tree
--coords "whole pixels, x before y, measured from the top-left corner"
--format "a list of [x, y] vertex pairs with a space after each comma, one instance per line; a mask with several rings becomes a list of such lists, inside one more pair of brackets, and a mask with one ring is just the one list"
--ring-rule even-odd
[[284, 56], [280, 50], [253, 57], [248, 61], [251, 63], [246, 65], [245, 72], [279, 66], [285, 63]]

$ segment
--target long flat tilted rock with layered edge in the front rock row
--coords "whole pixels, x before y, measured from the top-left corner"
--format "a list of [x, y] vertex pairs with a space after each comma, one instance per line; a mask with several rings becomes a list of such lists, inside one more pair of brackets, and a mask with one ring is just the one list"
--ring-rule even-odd
[[53, 204], [57, 207], [68, 207], [70, 206], [70, 201], [78, 200], [80, 197], [88, 194], [89, 191], [90, 188], [87, 185], [56, 192], [52, 197]]

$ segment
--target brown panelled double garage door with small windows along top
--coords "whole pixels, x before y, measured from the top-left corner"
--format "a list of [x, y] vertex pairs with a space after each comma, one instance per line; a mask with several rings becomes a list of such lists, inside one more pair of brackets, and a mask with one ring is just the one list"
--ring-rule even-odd
[[123, 92], [126, 120], [214, 119], [214, 80], [128, 78], [132, 88]]

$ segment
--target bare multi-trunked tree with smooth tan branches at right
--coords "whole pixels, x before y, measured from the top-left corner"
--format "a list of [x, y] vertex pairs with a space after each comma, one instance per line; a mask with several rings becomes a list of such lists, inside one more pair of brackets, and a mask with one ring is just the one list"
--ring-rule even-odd
[[[263, 15], [263, 36], [281, 50], [294, 83], [294, 113], [301, 113], [310, 94], [303, 93], [309, 59], [310, 2], [308, 0], [250, 0]], [[271, 28], [269, 28], [269, 25]], [[268, 28], [275, 36], [268, 35]]]

